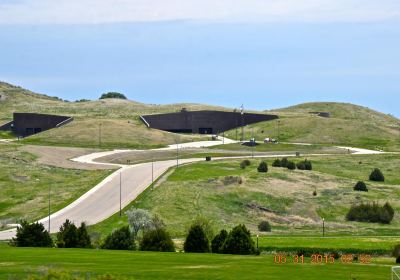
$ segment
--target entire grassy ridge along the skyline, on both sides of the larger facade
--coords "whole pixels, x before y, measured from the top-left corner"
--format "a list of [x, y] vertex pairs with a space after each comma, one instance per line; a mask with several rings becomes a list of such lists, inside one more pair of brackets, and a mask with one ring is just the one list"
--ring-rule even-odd
[[[98, 147], [101, 129], [103, 148], [159, 147], [175, 143], [177, 136], [147, 129], [139, 115], [177, 112], [181, 108], [232, 110], [202, 104], [152, 105], [123, 99], [66, 102], [1, 82], [0, 95], [0, 123], [11, 120], [13, 112], [49, 113], [75, 118], [66, 126], [24, 140], [43, 145]], [[322, 118], [310, 112], [329, 112], [331, 118]], [[400, 120], [369, 108], [325, 102], [305, 103], [268, 113], [279, 115], [279, 126], [278, 121], [248, 126], [245, 128], [246, 138], [250, 138], [252, 133], [258, 140], [278, 138], [279, 127], [279, 139], [286, 142], [400, 150]], [[236, 132], [227, 134], [235, 138]], [[200, 136], [179, 136], [179, 141], [193, 139], [200, 139]]]

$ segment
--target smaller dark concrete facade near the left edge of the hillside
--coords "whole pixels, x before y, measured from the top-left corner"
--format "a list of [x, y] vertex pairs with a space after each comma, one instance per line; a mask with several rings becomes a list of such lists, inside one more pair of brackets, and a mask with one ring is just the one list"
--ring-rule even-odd
[[72, 118], [66, 116], [14, 113], [14, 120], [2, 126], [1, 129], [12, 130], [16, 135], [26, 137], [59, 127], [71, 122], [72, 120]]

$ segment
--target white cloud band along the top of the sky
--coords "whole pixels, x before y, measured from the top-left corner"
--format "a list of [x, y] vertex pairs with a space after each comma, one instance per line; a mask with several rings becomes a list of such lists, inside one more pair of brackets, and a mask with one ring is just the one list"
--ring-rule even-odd
[[392, 19], [400, 19], [399, 0], [0, 0], [0, 24]]

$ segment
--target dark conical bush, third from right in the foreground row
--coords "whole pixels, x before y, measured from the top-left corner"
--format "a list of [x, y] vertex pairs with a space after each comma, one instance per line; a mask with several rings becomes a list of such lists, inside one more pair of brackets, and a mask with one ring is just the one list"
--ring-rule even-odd
[[200, 225], [193, 225], [186, 237], [184, 244], [186, 253], [208, 253], [210, 252], [210, 242]]

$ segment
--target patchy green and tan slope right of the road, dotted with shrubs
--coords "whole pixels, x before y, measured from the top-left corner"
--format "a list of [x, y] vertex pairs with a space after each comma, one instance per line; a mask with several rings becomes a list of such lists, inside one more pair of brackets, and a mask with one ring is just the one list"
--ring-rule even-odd
[[[161, 215], [172, 235], [178, 238], [185, 235], [198, 215], [213, 221], [216, 230], [244, 223], [253, 234], [257, 233], [258, 223], [265, 219], [272, 223], [273, 235], [319, 236], [322, 218], [326, 219], [328, 236], [396, 236], [399, 232], [398, 214], [390, 225], [345, 221], [350, 206], [360, 201], [381, 204], [389, 201], [397, 213], [400, 211], [396, 156], [313, 157], [312, 172], [272, 168], [272, 160], [268, 160], [268, 174], [256, 171], [258, 159], [245, 170], [239, 168], [238, 160], [183, 166], [129, 207]], [[368, 193], [354, 192], [357, 180], [367, 180], [372, 166], [383, 167], [387, 182], [367, 182]], [[342, 169], [344, 173], [338, 171]], [[237, 183], [235, 177], [240, 177], [243, 183]], [[316, 197], [312, 194], [314, 190], [318, 193]], [[116, 215], [93, 230], [109, 233], [124, 224], [126, 217], [120, 219]]]

